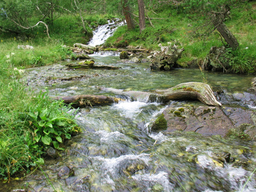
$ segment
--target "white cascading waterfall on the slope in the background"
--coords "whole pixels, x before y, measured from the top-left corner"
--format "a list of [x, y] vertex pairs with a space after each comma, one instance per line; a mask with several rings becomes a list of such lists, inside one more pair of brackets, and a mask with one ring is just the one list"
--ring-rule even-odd
[[99, 26], [95, 31], [93, 31], [93, 38], [88, 42], [88, 45], [96, 46], [104, 44], [109, 36], [112, 36], [115, 30], [123, 24], [124, 22], [118, 22], [118, 19], [116, 19], [116, 22], [108, 20], [108, 24]]

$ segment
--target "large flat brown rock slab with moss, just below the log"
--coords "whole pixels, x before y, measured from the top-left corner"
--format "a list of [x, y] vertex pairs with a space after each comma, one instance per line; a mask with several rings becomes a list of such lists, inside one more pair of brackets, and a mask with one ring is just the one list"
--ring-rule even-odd
[[243, 131], [255, 138], [256, 111], [243, 108], [171, 104], [152, 126], [152, 131], [192, 131], [206, 136], [226, 136], [230, 129], [250, 125]]

